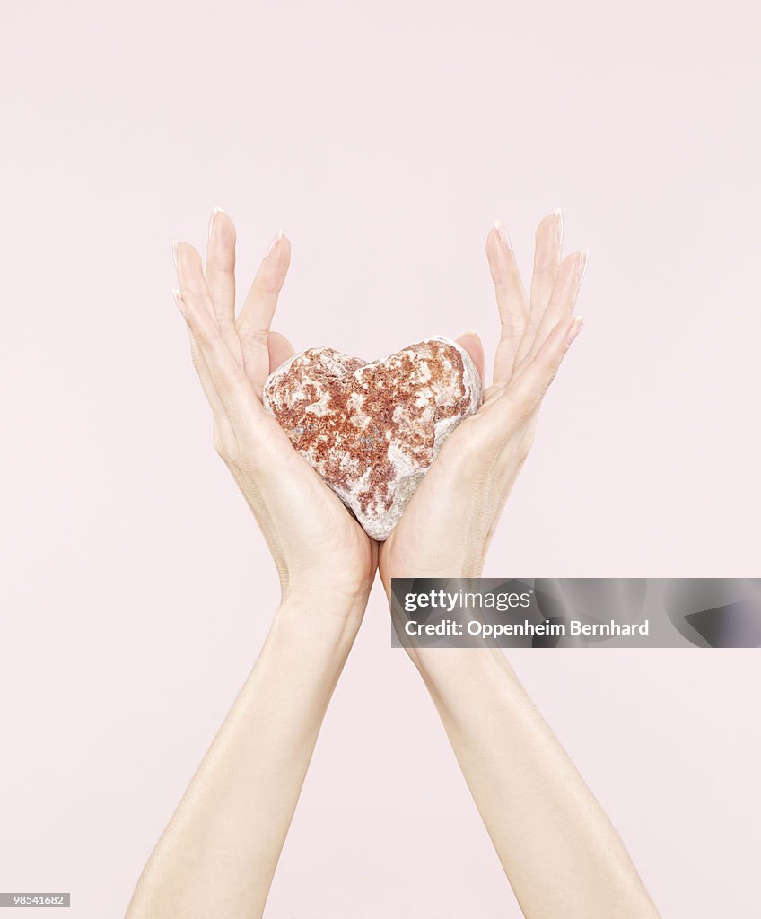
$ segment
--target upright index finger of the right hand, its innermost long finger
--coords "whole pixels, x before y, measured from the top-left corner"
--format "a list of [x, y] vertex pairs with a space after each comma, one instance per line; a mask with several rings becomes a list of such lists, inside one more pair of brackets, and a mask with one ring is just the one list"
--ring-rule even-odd
[[503, 386], [513, 372], [517, 348], [526, 331], [528, 300], [516, 255], [502, 221], [496, 221], [486, 237], [486, 258], [494, 281], [500, 322], [493, 381], [495, 386]]

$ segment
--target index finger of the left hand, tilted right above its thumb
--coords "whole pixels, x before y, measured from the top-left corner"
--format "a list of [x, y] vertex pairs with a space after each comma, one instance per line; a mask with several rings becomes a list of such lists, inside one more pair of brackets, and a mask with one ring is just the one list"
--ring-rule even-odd
[[269, 371], [267, 333], [290, 265], [290, 242], [282, 232], [273, 239], [256, 272], [237, 321], [244, 366], [257, 392]]

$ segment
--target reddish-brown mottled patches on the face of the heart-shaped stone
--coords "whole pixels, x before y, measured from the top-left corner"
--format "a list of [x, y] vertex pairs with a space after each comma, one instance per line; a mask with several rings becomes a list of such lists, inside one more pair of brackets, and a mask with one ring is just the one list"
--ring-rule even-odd
[[[320, 359], [321, 353], [340, 361], [343, 372], [331, 373]], [[423, 382], [425, 367], [431, 377]], [[360, 368], [361, 373], [356, 373]], [[446, 342], [420, 342], [373, 364], [329, 348], [312, 348], [296, 357], [288, 371], [272, 381], [267, 394], [273, 414], [293, 446], [326, 482], [348, 491], [369, 468], [368, 487], [358, 494], [359, 505], [367, 512], [377, 500], [387, 510], [392, 505], [394, 468], [388, 456], [392, 443], [416, 463], [424, 467], [430, 464], [435, 425], [446, 418], [459, 417], [468, 407], [470, 397], [463, 376], [460, 352]], [[436, 404], [437, 393], [448, 389], [452, 397], [446, 404]], [[416, 405], [426, 391], [426, 405]], [[325, 392], [330, 397], [328, 413], [306, 411]], [[365, 397], [358, 410], [350, 404], [353, 393]], [[302, 394], [306, 398], [300, 398]], [[394, 420], [393, 414], [400, 408], [403, 416]], [[433, 409], [433, 418], [427, 423], [426, 409]], [[363, 416], [367, 416], [369, 425], [359, 428], [356, 422]], [[342, 468], [341, 460], [346, 456], [358, 460], [356, 474]]]

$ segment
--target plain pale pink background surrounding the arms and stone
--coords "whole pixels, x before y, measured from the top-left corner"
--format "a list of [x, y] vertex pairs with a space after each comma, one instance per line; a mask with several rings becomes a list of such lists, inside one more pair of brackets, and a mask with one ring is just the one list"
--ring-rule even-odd
[[[241, 291], [282, 228], [278, 328], [364, 357], [468, 328], [491, 357], [485, 235], [502, 217], [528, 275], [562, 207], [587, 324], [485, 574], [759, 573], [759, 25], [750, 0], [4, 5], [0, 889], [123, 913], [277, 603], [170, 295], [215, 205]], [[664, 916], [755, 914], [758, 654], [511, 656]], [[518, 914], [380, 593], [267, 914]]]

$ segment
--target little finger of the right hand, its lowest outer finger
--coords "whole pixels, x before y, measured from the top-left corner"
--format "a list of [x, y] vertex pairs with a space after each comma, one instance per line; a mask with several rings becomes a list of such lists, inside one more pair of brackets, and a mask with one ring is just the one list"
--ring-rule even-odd
[[583, 322], [583, 316], [576, 316], [565, 317], [557, 323], [526, 369], [486, 407], [494, 416], [501, 415], [505, 443], [539, 408]]

